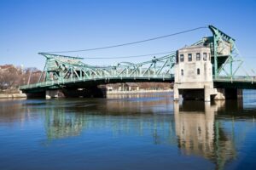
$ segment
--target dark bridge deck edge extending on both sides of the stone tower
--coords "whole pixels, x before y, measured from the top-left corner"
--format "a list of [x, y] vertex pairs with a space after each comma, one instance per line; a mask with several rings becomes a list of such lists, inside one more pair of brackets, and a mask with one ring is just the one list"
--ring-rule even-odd
[[[63, 79], [47, 82], [38, 82], [35, 84], [20, 86], [20, 90], [40, 91], [45, 89], [58, 89], [61, 87], [85, 88], [99, 84], [116, 82], [174, 82], [174, 77], [95, 77], [92, 79]], [[218, 77], [214, 78], [215, 88], [241, 88], [256, 89], [256, 77]]]

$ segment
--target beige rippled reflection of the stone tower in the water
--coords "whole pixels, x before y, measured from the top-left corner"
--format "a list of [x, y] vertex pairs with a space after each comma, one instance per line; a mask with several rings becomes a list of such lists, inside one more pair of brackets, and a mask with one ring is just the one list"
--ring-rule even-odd
[[200, 101], [174, 104], [177, 146], [185, 155], [207, 158], [215, 163], [216, 169], [223, 169], [226, 162], [236, 158], [235, 142], [216, 118], [224, 106], [225, 101], [214, 105]]

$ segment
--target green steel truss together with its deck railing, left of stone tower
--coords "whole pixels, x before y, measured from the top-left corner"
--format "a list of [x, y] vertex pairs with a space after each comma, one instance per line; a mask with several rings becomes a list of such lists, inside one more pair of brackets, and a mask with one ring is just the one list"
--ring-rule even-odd
[[175, 65], [175, 53], [149, 61], [133, 64], [121, 62], [112, 66], [92, 66], [82, 62], [82, 58], [59, 54], [44, 54], [46, 62], [38, 83], [20, 86], [21, 90], [33, 88], [52, 88], [73, 82], [123, 82], [153, 81], [165, 82], [173, 79], [172, 67]]

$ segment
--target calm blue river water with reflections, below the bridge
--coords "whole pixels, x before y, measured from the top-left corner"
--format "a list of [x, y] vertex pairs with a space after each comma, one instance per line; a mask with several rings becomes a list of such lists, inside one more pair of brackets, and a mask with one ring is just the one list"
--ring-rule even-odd
[[256, 92], [0, 100], [0, 169], [253, 169]]

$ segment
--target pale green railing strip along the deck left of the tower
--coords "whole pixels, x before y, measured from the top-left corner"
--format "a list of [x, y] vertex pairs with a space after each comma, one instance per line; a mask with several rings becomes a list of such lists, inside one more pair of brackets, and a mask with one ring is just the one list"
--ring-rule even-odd
[[64, 85], [67, 83], [72, 83], [72, 82], [89, 82], [89, 81], [101, 81], [101, 80], [111, 80], [111, 79], [134, 79], [134, 80], [145, 80], [145, 79], [162, 79], [163, 81], [165, 79], [170, 79], [172, 78], [173, 75], [148, 75], [147, 77], [91, 77], [90, 79], [82, 77], [82, 78], [70, 78], [70, 79], [59, 79], [59, 80], [52, 80], [52, 81], [47, 81], [47, 82], [38, 82], [35, 84], [28, 84], [28, 85], [23, 85], [20, 86], [20, 90], [23, 89], [30, 89], [30, 88], [49, 88], [49, 87], [58, 87], [59, 85]]

